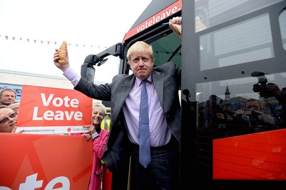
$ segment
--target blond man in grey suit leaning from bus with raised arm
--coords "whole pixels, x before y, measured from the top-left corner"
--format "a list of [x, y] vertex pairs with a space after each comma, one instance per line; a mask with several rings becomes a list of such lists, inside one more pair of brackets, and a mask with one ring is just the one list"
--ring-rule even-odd
[[[172, 24], [180, 22], [170, 20]], [[63, 75], [72, 82], [75, 90], [95, 99], [111, 101], [110, 135], [103, 161], [113, 172], [112, 189], [127, 189], [126, 176], [131, 156], [132, 190], [176, 190], [179, 187], [181, 139], [178, 96], [181, 68], [176, 68], [172, 62], [153, 68], [152, 47], [144, 42], [133, 44], [128, 49], [127, 59], [133, 74], [119, 74], [114, 76], [110, 84], [94, 85], [69, 66], [68, 53], [64, 64], [58, 63], [57, 49], [54, 54], [55, 65], [64, 72]], [[143, 80], [147, 81], [149, 106], [151, 161], [147, 166], [139, 161], [139, 112]]]

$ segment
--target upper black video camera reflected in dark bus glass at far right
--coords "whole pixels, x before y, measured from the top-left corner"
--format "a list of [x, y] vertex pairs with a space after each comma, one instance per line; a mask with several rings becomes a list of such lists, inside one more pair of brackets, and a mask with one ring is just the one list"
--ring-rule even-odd
[[258, 78], [257, 84], [253, 85], [253, 91], [255, 93], [259, 93], [259, 95], [264, 98], [274, 96], [272, 94], [269, 94], [269, 92], [266, 89], [268, 81], [264, 72], [254, 71], [251, 73], [251, 76]]

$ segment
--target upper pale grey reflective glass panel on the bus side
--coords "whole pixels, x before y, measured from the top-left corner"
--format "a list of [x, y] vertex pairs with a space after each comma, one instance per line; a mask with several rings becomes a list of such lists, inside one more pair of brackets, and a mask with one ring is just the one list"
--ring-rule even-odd
[[200, 71], [272, 58], [269, 15], [202, 35], [200, 46]]

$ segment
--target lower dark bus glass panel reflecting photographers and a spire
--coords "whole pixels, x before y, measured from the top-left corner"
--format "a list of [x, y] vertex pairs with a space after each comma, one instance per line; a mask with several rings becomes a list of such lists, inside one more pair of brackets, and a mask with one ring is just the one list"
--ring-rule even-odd
[[284, 128], [286, 72], [251, 75], [198, 83], [197, 129], [217, 139]]

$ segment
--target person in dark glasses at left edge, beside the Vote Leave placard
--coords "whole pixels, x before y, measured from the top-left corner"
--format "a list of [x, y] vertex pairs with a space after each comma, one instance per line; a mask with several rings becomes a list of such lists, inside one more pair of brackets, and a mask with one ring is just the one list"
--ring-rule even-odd
[[[18, 114], [5, 105], [0, 106], [0, 133], [15, 133]], [[22, 133], [24, 129], [17, 133]]]

